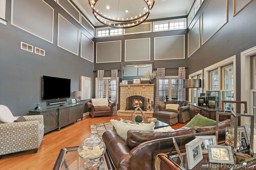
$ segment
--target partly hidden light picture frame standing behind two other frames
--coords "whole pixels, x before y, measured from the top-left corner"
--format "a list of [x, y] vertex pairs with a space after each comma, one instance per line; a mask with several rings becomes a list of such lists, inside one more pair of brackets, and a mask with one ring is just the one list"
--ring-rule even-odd
[[208, 153], [208, 145], [217, 145], [215, 135], [196, 136], [196, 138], [200, 139], [200, 145], [201, 145], [203, 154]]

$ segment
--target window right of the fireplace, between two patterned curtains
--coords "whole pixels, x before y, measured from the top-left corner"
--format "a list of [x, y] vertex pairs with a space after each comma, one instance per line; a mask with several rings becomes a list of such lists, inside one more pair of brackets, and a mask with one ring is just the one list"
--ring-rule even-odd
[[159, 80], [159, 94], [164, 96], [164, 101], [178, 100], [178, 76], [165, 76], [164, 81]]

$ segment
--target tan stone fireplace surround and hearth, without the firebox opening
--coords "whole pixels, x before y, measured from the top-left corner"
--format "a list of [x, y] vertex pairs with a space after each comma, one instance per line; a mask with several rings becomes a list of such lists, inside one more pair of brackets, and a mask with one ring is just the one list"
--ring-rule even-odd
[[[154, 101], [154, 84], [128, 84], [120, 85], [120, 110], [117, 111], [118, 116], [131, 117], [134, 110], [126, 110], [126, 98], [130, 96], [143, 96], [149, 99], [150, 108]], [[153, 102], [154, 103], [154, 102]], [[148, 106], [148, 104], [146, 104]], [[153, 111], [143, 111], [146, 117], [152, 117]], [[137, 111], [141, 115], [140, 111]]]

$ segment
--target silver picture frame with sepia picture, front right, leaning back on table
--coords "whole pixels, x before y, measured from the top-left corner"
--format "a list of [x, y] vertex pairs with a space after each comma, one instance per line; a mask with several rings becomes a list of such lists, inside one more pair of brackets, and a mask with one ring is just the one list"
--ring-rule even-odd
[[234, 164], [231, 146], [208, 145], [209, 162]]

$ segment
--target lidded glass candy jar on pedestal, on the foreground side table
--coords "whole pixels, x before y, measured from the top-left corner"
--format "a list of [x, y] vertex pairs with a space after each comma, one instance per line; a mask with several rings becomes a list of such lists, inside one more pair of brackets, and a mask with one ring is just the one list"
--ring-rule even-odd
[[86, 160], [84, 163], [85, 169], [96, 169], [100, 166], [99, 158], [106, 152], [106, 145], [92, 132], [90, 138], [85, 139], [77, 151], [78, 155]]

